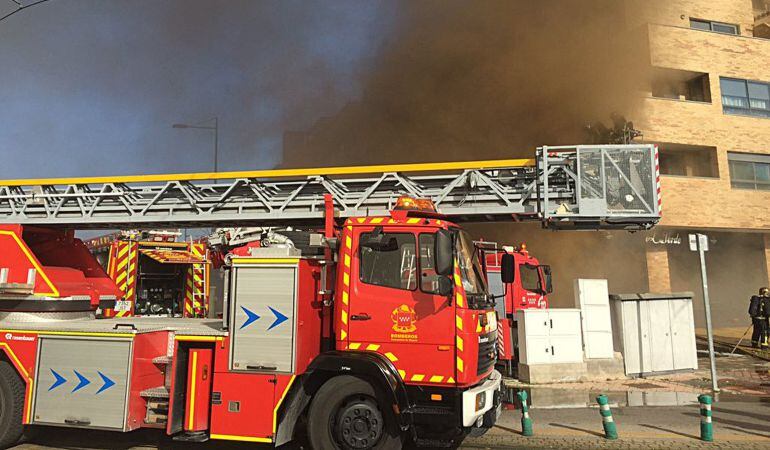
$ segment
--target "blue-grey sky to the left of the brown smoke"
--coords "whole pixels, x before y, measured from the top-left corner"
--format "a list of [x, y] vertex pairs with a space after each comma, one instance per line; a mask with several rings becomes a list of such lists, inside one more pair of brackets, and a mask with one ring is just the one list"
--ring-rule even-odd
[[[32, 0], [26, 0], [30, 3]], [[0, 0], [0, 16], [15, 8]], [[284, 131], [361, 95], [387, 1], [50, 0], [0, 22], [0, 179], [281, 162]]]

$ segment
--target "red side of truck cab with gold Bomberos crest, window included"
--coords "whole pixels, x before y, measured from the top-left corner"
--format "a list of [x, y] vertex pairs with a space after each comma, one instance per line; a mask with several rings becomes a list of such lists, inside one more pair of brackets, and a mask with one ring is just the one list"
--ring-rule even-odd
[[454, 303], [436, 293], [435, 233], [402, 230], [386, 227], [379, 247], [365, 245], [373, 228], [352, 231], [348, 346], [386, 355], [407, 381], [440, 382], [454, 371]]

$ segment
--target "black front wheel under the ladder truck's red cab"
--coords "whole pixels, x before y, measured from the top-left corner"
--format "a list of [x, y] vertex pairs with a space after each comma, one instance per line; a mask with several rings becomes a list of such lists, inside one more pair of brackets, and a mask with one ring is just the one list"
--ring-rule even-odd
[[[307, 434], [314, 450], [397, 450], [403, 438], [389, 408], [374, 388], [349, 375], [324, 383], [310, 404]], [[366, 436], [364, 436], [366, 435]], [[347, 436], [343, 442], [343, 436]]]

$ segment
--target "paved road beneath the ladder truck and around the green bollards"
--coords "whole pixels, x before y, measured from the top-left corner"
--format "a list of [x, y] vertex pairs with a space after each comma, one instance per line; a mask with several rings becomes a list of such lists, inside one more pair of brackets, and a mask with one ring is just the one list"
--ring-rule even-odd
[[[715, 443], [698, 440], [698, 407], [627, 407], [614, 410], [621, 439], [606, 441], [599, 413], [593, 408], [532, 410], [535, 437], [519, 434], [519, 413], [505, 411], [498, 426], [487, 435], [468, 439], [466, 449], [516, 448], [730, 448], [770, 449], [770, 401], [722, 402], [714, 408]], [[215, 441], [180, 444], [149, 430], [125, 435], [44, 429], [19, 450], [42, 449], [200, 449], [255, 450], [267, 446]], [[286, 446], [297, 449], [299, 446]]]

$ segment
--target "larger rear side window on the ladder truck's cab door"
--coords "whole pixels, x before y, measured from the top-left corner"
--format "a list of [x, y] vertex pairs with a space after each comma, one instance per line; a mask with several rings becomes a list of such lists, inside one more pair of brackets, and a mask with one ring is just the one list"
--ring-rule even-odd
[[[362, 233], [361, 242], [365, 242], [371, 235]], [[384, 233], [381, 242], [387, 244], [378, 249], [361, 246], [361, 281], [377, 286], [415, 290], [417, 261], [414, 235]]]

